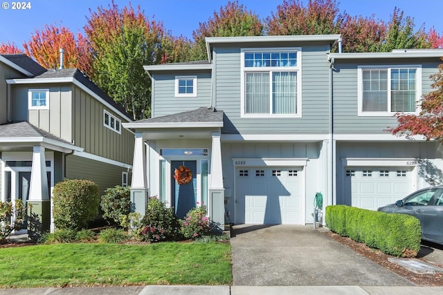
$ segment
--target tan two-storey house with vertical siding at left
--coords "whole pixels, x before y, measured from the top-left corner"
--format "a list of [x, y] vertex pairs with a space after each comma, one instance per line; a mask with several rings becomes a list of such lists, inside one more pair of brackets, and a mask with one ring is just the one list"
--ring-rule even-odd
[[102, 193], [127, 185], [131, 117], [76, 68], [46, 70], [26, 55], [0, 55], [0, 196], [32, 204], [51, 224], [51, 192], [65, 178]]

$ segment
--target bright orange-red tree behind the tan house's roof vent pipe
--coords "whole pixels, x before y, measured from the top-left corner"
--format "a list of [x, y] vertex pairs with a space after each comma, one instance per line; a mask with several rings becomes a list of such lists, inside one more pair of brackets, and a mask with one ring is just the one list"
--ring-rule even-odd
[[[35, 30], [30, 41], [24, 43], [26, 55], [32, 57], [45, 68], [60, 66], [60, 48], [64, 49], [64, 67], [89, 70], [89, 55], [84, 55], [83, 36], [77, 36], [65, 26], [45, 25], [42, 30]], [[82, 54], [80, 54], [82, 53]]]

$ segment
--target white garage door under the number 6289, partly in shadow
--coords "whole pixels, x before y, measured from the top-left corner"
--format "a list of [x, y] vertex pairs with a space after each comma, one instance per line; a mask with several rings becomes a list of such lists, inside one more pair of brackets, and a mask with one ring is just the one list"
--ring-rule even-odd
[[236, 223], [302, 223], [302, 167], [241, 167], [236, 173]]

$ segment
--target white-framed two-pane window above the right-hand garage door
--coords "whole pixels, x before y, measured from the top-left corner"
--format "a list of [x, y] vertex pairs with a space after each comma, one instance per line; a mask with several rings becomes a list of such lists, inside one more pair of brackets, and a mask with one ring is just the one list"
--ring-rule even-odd
[[359, 115], [419, 113], [422, 66], [359, 66]]

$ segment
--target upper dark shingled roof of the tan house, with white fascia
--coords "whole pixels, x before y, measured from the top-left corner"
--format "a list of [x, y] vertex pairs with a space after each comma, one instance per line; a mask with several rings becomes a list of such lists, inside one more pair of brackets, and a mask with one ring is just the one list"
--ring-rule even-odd
[[98, 99], [107, 105], [111, 110], [125, 117], [132, 122], [132, 117], [126, 113], [125, 109], [119, 106], [105, 91], [102, 91], [89, 77], [78, 68], [60, 68], [55, 70], [46, 70], [33, 78], [7, 79], [8, 84], [48, 84], [48, 83], [73, 83], [82, 88], [83, 91]]

